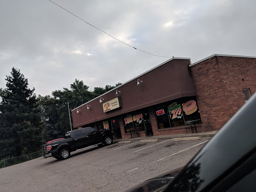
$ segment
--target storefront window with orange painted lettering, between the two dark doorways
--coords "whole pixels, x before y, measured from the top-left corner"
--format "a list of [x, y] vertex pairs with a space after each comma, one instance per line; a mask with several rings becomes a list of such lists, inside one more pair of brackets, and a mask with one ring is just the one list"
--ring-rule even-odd
[[128, 114], [125, 114], [123, 116], [123, 125], [124, 125], [124, 131], [125, 133], [128, 133], [130, 130], [134, 132], [138, 131], [144, 131], [144, 119], [143, 119], [143, 113], [141, 111], [135, 111]]

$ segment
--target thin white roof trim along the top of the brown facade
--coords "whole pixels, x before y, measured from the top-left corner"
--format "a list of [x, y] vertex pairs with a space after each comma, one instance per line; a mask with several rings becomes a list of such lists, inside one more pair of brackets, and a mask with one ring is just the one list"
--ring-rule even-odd
[[[85, 104], [88, 104], [88, 103], [89, 103], [90, 101], [92, 101], [92, 100], [95, 100], [95, 99], [97, 99], [97, 98], [99, 98], [99, 97], [102, 97], [102, 95], [104, 95], [104, 94], [106, 94], [106, 93], [108, 93], [108, 92], [111, 92], [111, 91], [117, 89], [118, 87], [120, 87], [120, 86], [122, 86], [122, 85], [124, 85], [124, 84], [126, 84], [126, 83], [128, 83], [128, 82], [130, 82], [130, 81], [132, 81], [132, 80], [134, 80], [134, 79], [136, 79], [136, 78], [142, 76], [143, 74], [145, 74], [145, 73], [147, 73], [147, 72], [149, 72], [149, 71], [151, 71], [151, 70], [153, 70], [153, 69], [155, 69], [155, 68], [157, 68], [157, 67], [159, 67], [159, 66], [165, 64], [166, 62], [169, 62], [170, 60], [173, 60], [173, 59], [186, 59], [186, 60], [189, 59], [189, 60], [190, 60], [190, 63], [191, 63], [191, 59], [188, 58], [188, 57], [171, 57], [170, 59], [168, 59], [168, 60], [162, 62], [161, 64], [158, 64], [157, 66], [155, 66], [155, 67], [153, 67], [153, 68], [151, 68], [151, 69], [149, 69], [149, 70], [143, 72], [142, 74], [139, 74], [138, 76], [136, 76], [136, 77], [134, 77], [134, 78], [132, 78], [132, 79], [130, 79], [130, 80], [128, 80], [128, 81], [126, 81], [126, 82], [120, 84], [119, 86], [116, 86], [116, 87], [114, 87], [113, 89], [108, 90], [107, 92], [105, 92], [105, 93], [103, 93], [103, 94], [101, 94], [101, 95], [99, 95], [99, 96], [97, 96], [97, 97], [95, 97], [95, 98], [89, 100], [88, 102], [85, 102], [85, 103], [81, 104], [80, 106], [75, 107], [75, 108], [72, 109], [71, 111], [73, 111], [73, 110], [75, 110], [75, 109], [77, 109], [77, 108], [79, 108], [79, 107], [81, 107], [81, 106], [83, 106], [83, 105], [85, 105]], [[190, 66], [190, 65], [189, 65], [189, 66]]]

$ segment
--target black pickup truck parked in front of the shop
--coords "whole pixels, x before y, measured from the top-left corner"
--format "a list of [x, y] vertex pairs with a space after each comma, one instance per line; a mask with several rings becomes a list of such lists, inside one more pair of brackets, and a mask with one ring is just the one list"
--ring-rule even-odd
[[66, 159], [71, 151], [80, 150], [94, 145], [109, 145], [113, 142], [114, 133], [110, 130], [96, 130], [91, 127], [71, 130], [66, 133], [67, 138], [48, 141], [42, 145], [44, 158], [55, 157]]

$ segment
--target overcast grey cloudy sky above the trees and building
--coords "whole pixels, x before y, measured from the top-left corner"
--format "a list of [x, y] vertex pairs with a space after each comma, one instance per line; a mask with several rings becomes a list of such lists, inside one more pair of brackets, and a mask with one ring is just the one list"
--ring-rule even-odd
[[[256, 56], [256, 0], [52, 0], [152, 54]], [[35, 93], [114, 85], [169, 59], [108, 36], [49, 0], [0, 0], [0, 87], [19, 68]]]

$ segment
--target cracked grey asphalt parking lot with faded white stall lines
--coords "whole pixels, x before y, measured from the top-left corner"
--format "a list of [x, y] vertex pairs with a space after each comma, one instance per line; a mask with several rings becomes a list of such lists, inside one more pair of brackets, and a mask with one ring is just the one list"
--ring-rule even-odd
[[123, 191], [183, 166], [209, 139], [114, 143], [0, 169], [1, 191]]

